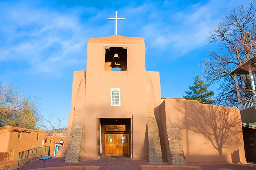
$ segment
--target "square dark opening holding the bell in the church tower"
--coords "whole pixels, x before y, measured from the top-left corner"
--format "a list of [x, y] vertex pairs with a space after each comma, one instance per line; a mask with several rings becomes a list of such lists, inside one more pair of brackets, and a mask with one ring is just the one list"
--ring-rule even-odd
[[127, 49], [123, 47], [110, 47], [105, 53], [105, 71], [126, 71]]

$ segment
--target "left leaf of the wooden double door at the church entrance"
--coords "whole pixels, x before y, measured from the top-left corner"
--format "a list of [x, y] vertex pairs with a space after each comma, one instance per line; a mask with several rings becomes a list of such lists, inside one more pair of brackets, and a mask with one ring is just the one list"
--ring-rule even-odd
[[105, 156], [117, 156], [116, 134], [105, 134]]

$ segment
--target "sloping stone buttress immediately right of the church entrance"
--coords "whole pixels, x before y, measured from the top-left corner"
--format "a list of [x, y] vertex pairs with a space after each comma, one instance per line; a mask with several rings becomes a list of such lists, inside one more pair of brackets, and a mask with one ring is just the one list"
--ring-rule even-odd
[[148, 133], [148, 160], [149, 163], [159, 164], [163, 162], [160, 136], [157, 120], [154, 114], [148, 115], [147, 118]]

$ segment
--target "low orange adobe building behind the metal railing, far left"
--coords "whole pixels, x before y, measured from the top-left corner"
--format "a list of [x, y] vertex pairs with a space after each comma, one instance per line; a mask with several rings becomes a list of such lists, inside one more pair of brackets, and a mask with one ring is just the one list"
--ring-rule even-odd
[[[56, 155], [64, 146], [65, 138], [45, 136], [44, 130], [12, 126], [0, 127], [0, 167], [16, 164], [18, 159], [33, 157], [35, 148], [39, 148], [39, 151], [40, 147], [49, 146], [49, 150], [44, 152], [47, 155]], [[37, 153], [37, 155], [40, 154]]]

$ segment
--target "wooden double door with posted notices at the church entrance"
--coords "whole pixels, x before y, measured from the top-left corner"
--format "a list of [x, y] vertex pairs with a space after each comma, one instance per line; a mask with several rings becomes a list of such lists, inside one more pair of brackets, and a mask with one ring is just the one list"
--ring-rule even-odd
[[129, 155], [129, 134], [105, 134], [105, 156]]

